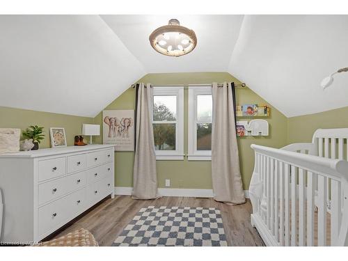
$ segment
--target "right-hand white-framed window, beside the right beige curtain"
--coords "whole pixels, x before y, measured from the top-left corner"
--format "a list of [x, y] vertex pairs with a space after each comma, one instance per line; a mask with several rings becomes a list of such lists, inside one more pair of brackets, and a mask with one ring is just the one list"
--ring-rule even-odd
[[212, 159], [212, 88], [189, 87], [189, 160]]

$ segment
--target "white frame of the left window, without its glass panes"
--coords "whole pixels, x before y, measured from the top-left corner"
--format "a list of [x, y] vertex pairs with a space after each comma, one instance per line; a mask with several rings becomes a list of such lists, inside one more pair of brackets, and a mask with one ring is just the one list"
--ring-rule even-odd
[[[154, 96], [175, 95], [176, 99], [176, 120], [154, 121], [152, 97], [151, 119], [153, 123], [176, 123], [175, 129], [175, 150], [155, 150], [156, 160], [184, 160], [184, 86], [156, 86], [153, 87]], [[155, 144], [154, 144], [155, 145]]]

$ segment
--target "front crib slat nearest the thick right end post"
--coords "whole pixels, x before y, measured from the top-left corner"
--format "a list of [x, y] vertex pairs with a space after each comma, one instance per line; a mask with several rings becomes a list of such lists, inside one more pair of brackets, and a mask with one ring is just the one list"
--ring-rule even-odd
[[326, 177], [318, 177], [318, 246], [326, 245]]

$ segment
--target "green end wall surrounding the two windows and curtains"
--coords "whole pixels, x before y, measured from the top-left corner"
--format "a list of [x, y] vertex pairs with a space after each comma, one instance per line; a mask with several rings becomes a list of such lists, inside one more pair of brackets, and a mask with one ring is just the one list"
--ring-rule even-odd
[[[235, 81], [227, 72], [195, 72], [195, 73], [168, 73], [147, 74], [139, 82], [154, 85], [169, 84], [210, 84], [213, 81]], [[187, 154], [187, 108], [188, 90], [184, 90], [184, 154]], [[129, 88], [120, 97], [114, 100], [105, 109], [134, 109], [135, 92]], [[267, 104], [260, 96], [249, 88], [237, 88], [238, 104]], [[245, 118], [238, 118], [244, 120]], [[248, 118], [251, 120], [251, 118]], [[251, 174], [253, 173], [254, 155], [250, 145], [252, 143], [280, 148], [287, 141], [287, 118], [271, 106], [271, 116], [267, 118], [270, 125], [270, 135], [263, 137], [242, 137], [238, 139], [239, 157], [241, 161], [244, 189], [248, 189]], [[102, 125], [102, 112], [94, 118], [96, 124]], [[96, 139], [102, 143], [102, 136]], [[116, 186], [132, 187], [134, 152], [116, 152]], [[165, 187], [165, 179], [171, 179], [171, 188], [212, 189], [212, 175], [210, 161], [157, 161], [157, 175], [159, 187]]]

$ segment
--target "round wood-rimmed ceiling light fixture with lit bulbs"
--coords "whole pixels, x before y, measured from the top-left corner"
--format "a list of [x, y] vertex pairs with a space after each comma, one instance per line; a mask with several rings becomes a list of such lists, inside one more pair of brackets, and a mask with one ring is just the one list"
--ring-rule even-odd
[[197, 45], [196, 33], [170, 19], [168, 25], [157, 28], [150, 34], [150, 44], [157, 52], [167, 56], [189, 54]]

